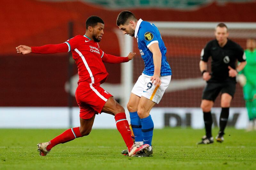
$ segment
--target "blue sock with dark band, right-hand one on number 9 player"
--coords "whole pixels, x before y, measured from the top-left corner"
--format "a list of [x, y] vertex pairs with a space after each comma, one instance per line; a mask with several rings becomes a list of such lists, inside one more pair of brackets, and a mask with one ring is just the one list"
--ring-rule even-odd
[[140, 119], [140, 122], [141, 122], [143, 142], [144, 144], [149, 144], [149, 146], [151, 146], [153, 129], [154, 129], [154, 123], [151, 118], [151, 115], [149, 115], [146, 118]]

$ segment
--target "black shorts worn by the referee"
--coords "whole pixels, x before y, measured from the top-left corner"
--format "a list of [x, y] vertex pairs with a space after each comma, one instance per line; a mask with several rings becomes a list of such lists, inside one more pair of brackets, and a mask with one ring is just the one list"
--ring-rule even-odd
[[207, 82], [207, 85], [203, 91], [203, 100], [212, 100], [218, 97], [219, 93], [228, 93], [234, 97], [236, 91], [236, 82], [235, 81], [221, 81], [221, 82]]

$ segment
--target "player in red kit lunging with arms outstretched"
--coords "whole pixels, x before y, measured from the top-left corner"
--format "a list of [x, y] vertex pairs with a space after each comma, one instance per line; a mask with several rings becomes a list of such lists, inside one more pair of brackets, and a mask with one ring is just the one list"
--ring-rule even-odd
[[52, 54], [71, 51], [78, 68], [79, 81], [76, 89], [76, 101], [80, 108], [80, 127], [68, 129], [50, 142], [37, 144], [41, 156], [46, 156], [52, 147], [57, 144], [63, 144], [77, 137], [89, 135], [95, 114], [101, 112], [115, 116], [116, 127], [129, 150], [129, 156], [134, 156], [149, 146], [148, 144], [133, 144], [124, 108], [116, 102], [110, 93], [100, 87], [100, 84], [104, 83], [108, 77], [108, 72], [103, 62], [124, 63], [132, 60], [135, 55], [135, 53], [129, 53], [127, 57], [117, 57], [104, 53], [98, 44], [102, 39], [103, 30], [103, 20], [100, 17], [91, 16], [86, 20], [86, 33], [84, 36], [77, 35], [61, 44], [48, 44], [41, 47], [20, 45], [16, 47], [17, 53], [23, 55], [28, 53]]

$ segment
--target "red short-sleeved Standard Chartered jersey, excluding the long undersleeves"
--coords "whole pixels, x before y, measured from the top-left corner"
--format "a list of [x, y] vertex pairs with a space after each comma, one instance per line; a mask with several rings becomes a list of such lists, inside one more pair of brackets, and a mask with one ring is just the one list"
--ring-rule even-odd
[[108, 72], [102, 62], [104, 52], [97, 42], [85, 35], [77, 35], [66, 41], [78, 68], [78, 82], [104, 83]]

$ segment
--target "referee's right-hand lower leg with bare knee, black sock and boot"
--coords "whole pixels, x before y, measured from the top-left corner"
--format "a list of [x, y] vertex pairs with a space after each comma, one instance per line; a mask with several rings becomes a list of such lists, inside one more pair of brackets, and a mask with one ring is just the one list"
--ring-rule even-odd
[[220, 113], [220, 131], [216, 137], [217, 142], [223, 142], [224, 130], [228, 123], [229, 107], [232, 100], [232, 96], [228, 93], [222, 93], [220, 99], [221, 113]]

